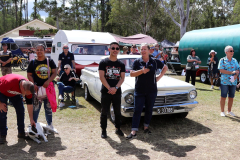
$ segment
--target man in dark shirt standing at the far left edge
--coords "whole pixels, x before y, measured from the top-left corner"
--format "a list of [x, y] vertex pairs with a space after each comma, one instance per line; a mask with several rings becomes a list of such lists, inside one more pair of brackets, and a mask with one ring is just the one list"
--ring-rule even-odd
[[2, 75], [5, 76], [6, 74], [12, 73], [11, 68], [11, 60], [12, 60], [12, 52], [7, 50], [7, 44], [2, 44], [3, 51], [0, 51], [0, 63], [1, 63], [1, 71]]

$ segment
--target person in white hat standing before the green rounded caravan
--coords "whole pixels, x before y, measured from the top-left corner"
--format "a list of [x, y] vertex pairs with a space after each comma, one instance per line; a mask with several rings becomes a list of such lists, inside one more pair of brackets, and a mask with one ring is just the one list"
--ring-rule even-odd
[[209, 52], [209, 58], [207, 61], [207, 65], [208, 65], [208, 74], [209, 74], [209, 78], [211, 81], [211, 88], [210, 89], [214, 89], [213, 87], [213, 79], [218, 79], [219, 78], [219, 71], [218, 71], [218, 58], [216, 57], [217, 52], [215, 52], [214, 50], [211, 50]]

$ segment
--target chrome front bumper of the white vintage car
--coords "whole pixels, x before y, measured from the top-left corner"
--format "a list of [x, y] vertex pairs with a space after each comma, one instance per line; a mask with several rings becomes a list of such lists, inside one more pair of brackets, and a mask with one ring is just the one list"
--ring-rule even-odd
[[[163, 115], [163, 114], [174, 114], [174, 113], [183, 113], [183, 112], [189, 112], [193, 110], [197, 106], [198, 102], [189, 102], [189, 103], [183, 103], [183, 104], [172, 104], [172, 105], [164, 105], [164, 106], [154, 106], [153, 107], [153, 115]], [[158, 113], [158, 109], [162, 107], [173, 107], [174, 112], [170, 113]], [[121, 106], [121, 114], [124, 117], [132, 117], [134, 112], [134, 107], [125, 107]], [[143, 111], [141, 116], [144, 116], [145, 112]]]

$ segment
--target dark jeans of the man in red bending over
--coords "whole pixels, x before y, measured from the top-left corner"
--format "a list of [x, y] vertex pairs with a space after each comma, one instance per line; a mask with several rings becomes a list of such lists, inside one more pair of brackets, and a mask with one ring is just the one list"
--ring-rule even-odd
[[[8, 99], [12, 102], [13, 107], [15, 108], [17, 114], [17, 126], [18, 133], [25, 133], [25, 125], [24, 125], [24, 115], [25, 108], [22, 101], [21, 95], [16, 95], [14, 97], [7, 97], [0, 93], [0, 101], [2, 103], [7, 104]], [[7, 112], [0, 112], [0, 134], [2, 136], [7, 135]]]

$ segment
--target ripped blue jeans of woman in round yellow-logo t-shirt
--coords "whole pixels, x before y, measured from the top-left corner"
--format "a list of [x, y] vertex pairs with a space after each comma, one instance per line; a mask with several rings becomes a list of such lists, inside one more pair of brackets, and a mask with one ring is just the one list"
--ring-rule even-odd
[[42, 102], [44, 102], [45, 109], [45, 117], [48, 125], [52, 124], [52, 108], [48, 99], [44, 99], [42, 101], [37, 101], [37, 103], [33, 104], [33, 120], [37, 123], [38, 115], [42, 106]]

